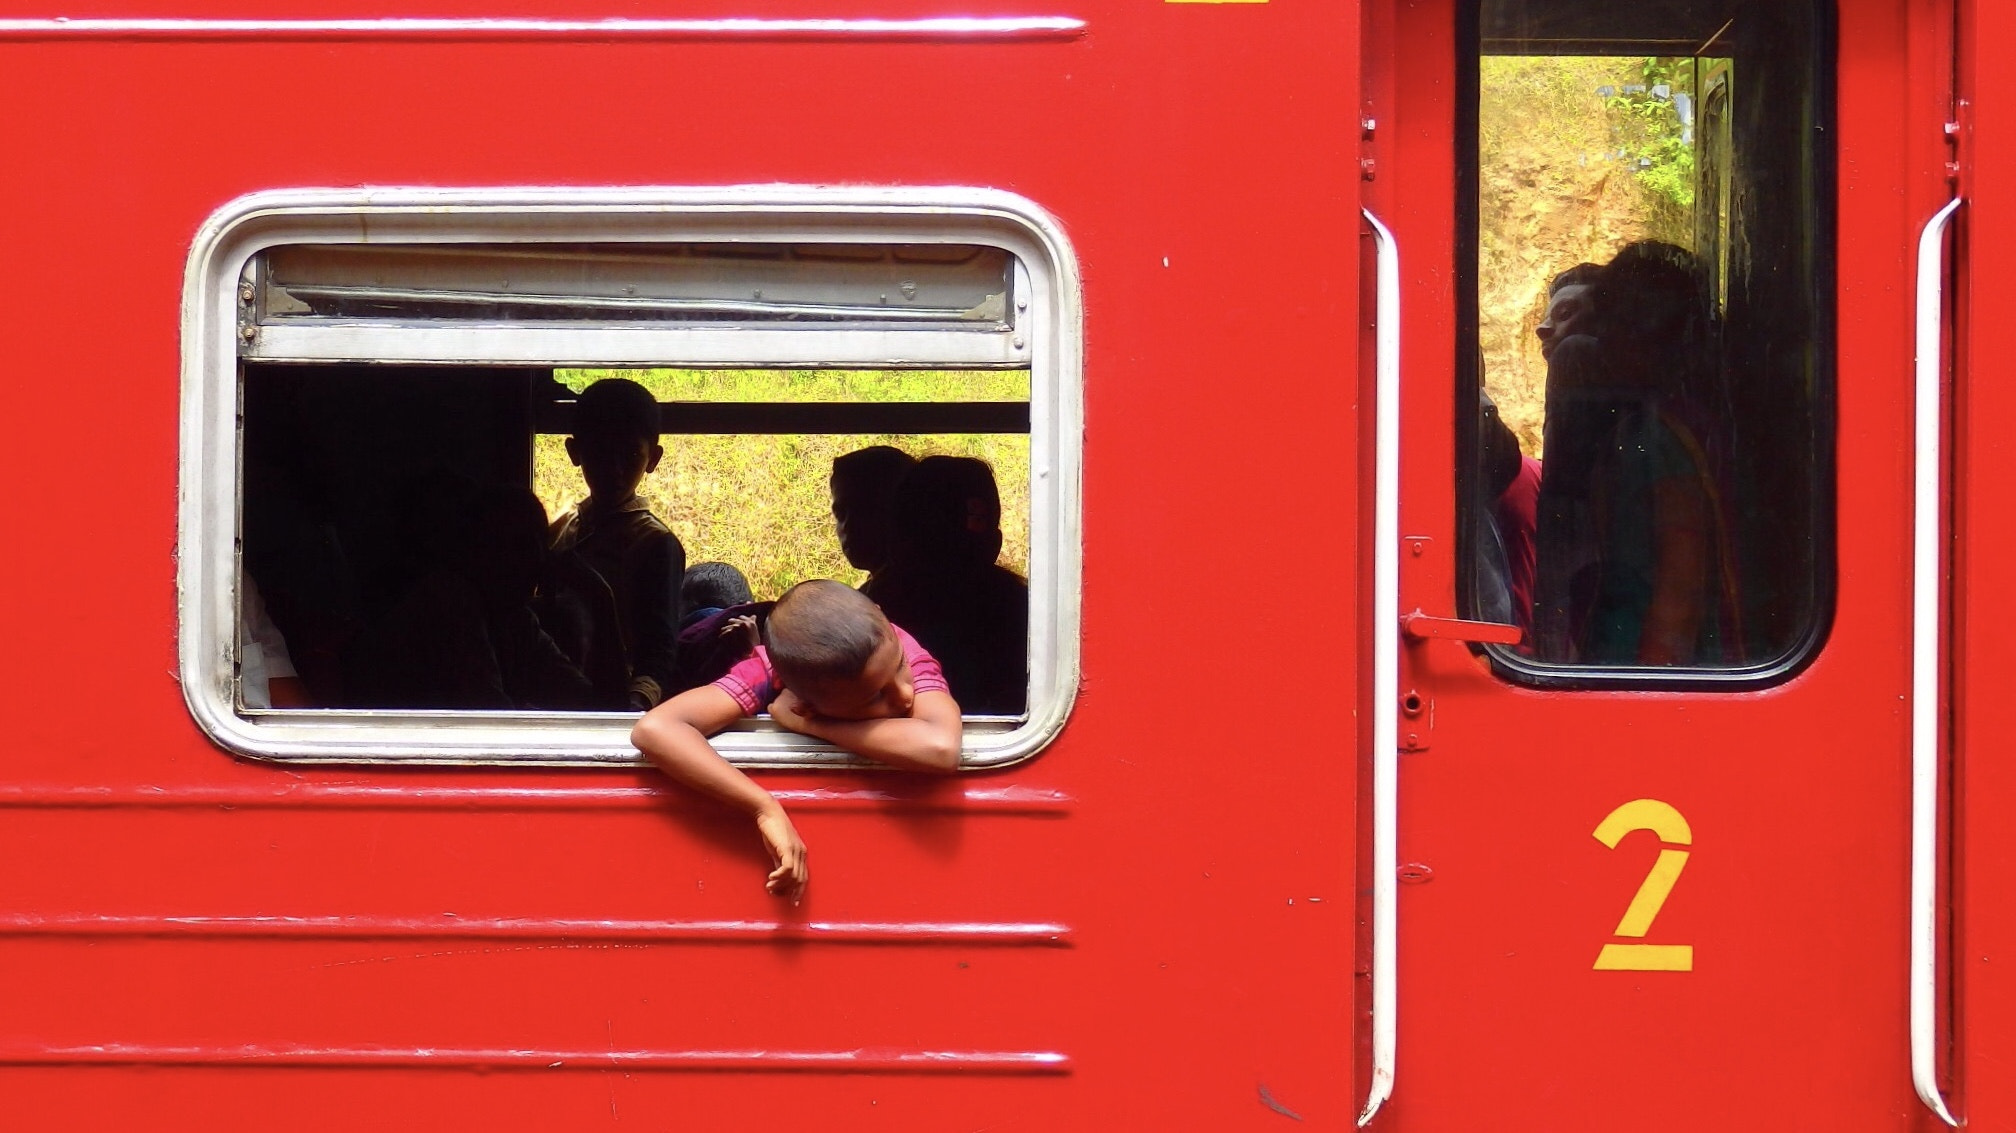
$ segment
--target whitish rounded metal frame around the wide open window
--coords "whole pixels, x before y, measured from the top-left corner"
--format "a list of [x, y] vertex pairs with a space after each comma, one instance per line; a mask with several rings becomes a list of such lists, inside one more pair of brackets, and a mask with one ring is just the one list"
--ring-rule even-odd
[[[964, 768], [998, 768], [1036, 754], [1064, 726], [1079, 685], [1083, 319], [1077, 256], [1036, 204], [980, 187], [371, 187], [276, 190], [238, 198], [202, 226], [181, 298], [181, 466], [177, 498], [177, 625], [181, 689], [198, 726], [222, 748], [310, 764], [633, 764], [627, 712], [389, 712], [238, 708], [238, 530], [242, 454], [240, 280], [262, 250], [282, 244], [988, 244], [1016, 258], [1018, 351], [1030, 369], [1030, 619], [1028, 712], [968, 718]], [[653, 331], [645, 359], [631, 337], [595, 327], [550, 331], [556, 365], [720, 365], [718, 331]], [[681, 345], [681, 335], [685, 345]], [[571, 339], [571, 341], [569, 341]], [[613, 343], [603, 347], [603, 341]], [[748, 365], [818, 361], [816, 333], [772, 337]], [[899, 335], [891, 337], [893, 341]], [[359, 337], [369, 349], [369, 337]], [[837, 341], [837, 339], [835, 339]], [[476, 343], [476, 345], [470, 345]], [[794, 345], [796, 343], [796, 345]], [[859, 351], [855, 365], [917, 359]], [[464, 339], [452, 361], [506, 365]], [[669, 351], [669, 353], [659, 353]], [[343, 351], [337, 351], [343, 353]], [[369, 355], [351, 361], [385, 361]], [[716, 736], [740, 766], [851, 766], [863, 760], [744, 722]]]

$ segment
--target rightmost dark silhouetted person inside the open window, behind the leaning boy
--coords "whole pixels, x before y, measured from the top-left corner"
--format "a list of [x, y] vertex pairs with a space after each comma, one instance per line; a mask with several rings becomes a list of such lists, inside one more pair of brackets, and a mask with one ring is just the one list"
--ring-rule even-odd
[[937, 657], [968, 712], [1028, 702], [1028, 583], [996, 564], [1000, 492], [984, 460], [927, 456], [895, 492], [895, 554], [863, 583]]

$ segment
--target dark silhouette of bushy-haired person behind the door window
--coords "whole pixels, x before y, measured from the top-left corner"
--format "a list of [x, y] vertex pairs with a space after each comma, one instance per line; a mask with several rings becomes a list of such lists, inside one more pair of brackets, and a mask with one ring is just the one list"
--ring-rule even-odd
[[1574, 333], [1546, 351], [1534, 581], [1544, 661], [1714, 665], [1736, 647], [1695, 397], [1710, 323], [1693, 254], [1647, 240], [1597, 272]]

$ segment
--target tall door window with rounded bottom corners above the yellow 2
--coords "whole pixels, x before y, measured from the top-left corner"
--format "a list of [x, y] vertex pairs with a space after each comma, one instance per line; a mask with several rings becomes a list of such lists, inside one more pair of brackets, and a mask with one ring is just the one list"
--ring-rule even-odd
[[1462, 605], [1526, 683], [1780, 679], [1833, 587], [1826, 12], [1470, 18]]

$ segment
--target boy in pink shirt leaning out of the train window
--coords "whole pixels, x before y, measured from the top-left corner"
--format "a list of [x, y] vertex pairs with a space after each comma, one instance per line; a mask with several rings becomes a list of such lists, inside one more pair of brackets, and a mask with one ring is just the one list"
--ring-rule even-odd
[[756, 821], [770, 851], [766, 887], [804, 891], [804, 843], [784, 806], [724, 760], [708, 736], [768, 708], [780, 728], [907, 770], [960, 766], [960, 706], [937, 661], [875, 603], [829, 579], [778, 599], [758, 649], [722, 679], [681, 691], [631, 730], [631, 742], [677, 782]]

